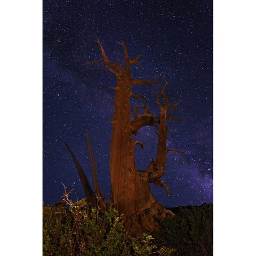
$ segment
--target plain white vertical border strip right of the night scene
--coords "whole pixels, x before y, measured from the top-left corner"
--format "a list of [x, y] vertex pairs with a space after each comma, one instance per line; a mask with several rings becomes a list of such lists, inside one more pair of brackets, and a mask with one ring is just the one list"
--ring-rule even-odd
[[214, 0], [215, 256], [255, 251], [255, 23], [254, 1]]

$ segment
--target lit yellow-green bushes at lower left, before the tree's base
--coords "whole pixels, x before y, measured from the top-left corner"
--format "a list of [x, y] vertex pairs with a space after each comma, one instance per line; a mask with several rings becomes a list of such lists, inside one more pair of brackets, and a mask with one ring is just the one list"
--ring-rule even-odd
[[101, 213], [85, 201], [43, 207], [44, 256], [171, 255], [173, 249], [154, 245], [151, 235], [131, 237], [115, 209]]

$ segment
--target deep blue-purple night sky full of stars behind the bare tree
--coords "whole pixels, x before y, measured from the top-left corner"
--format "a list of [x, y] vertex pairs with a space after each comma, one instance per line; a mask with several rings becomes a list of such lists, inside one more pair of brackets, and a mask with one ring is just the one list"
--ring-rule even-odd
[[[169, 121], [167, 147], [188, 150], [167, 155], [162, 187], [151, 186], [165, 206], [201, 205], [213, 202], [213, 10], [212, 1], [43, 1], [43, 201], [61, 199], [63, 182], [75, 191], [71, 198], [84, 197], [77, 170], [64, 142], [73, 149], [91, 185], [92, 170], [87, 149], [89, 131], [99, 185], [109, 199], [109, 153], [116, 77], [102, 69], [99, 37], [108, 58], [122, 64], [124, 41], [131, 58], [142, 54], [142, 66], [133, 66], [138, 79], [154, 79], [159, 85], [135, 85], [133, 92], [149, 102], [131, 99], [131, 106], [149, 105], [159, 114], [154, 90], [165, 76], [170, 101], [183, 100], [185, 122]], [[137, 139], [145, 149], [136, 149], [136, 165], [146, 170], [157, 154], [155, 127], [143, 127]]]

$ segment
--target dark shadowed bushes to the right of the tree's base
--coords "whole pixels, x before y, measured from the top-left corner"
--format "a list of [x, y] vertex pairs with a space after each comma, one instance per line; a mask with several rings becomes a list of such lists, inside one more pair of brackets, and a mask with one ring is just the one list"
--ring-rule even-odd
[[172, 246], [177, 256], [213, 254], [213, 205], [177, 207], [175, 217], [159, 219], [163, 231], [155, 234], [159, 245]]

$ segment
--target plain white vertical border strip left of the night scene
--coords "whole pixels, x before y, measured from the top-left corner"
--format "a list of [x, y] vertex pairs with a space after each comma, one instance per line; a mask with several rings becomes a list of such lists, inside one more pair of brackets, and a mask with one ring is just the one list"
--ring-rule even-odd
[[0, 10], [0, 254], [42, 255], [42, 2]]

